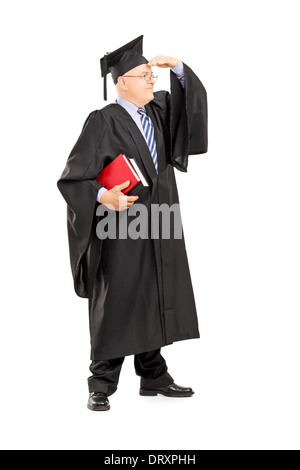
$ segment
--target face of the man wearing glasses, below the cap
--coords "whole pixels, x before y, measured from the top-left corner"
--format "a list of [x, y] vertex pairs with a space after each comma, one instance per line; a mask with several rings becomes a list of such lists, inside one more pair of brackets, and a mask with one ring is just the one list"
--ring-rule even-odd
[[126, 99], [128, 101], [137, 103], [138, 106], [144, 106], [153, 100], [155, 79], [151, 78], [151, 80], [146, 81], [142, 77], [132, 77], [132, 75], [146, 75], [146, 78], [150, 78], [151, 74], [152, 69], [147, 64], [138, 65], [124, 74], [124, 77], [130, 75], [130, 77], [125, 78], [126, 86], [128, 87], [126, 92]]

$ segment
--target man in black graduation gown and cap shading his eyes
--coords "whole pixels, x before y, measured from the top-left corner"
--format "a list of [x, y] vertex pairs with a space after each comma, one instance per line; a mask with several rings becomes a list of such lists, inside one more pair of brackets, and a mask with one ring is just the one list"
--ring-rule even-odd
[[[155, 237], [150, 216], [147, 237], [125, 238], [118, 229], [138, 217], [132, 212], [138, 204], [149, 214], [154, 205], [179, 206], [174, 169], [187, 172], [188, 156], [207, 152], [206, 90], [178, 58], [145, 59], [142, 40], [101, 59], [104, 99], [109, 72], [118, 98], [89, 114], [57, 182], [67, 202], [75, 292], [89, 301], [91, 410], [109, 409], [128, 355], [141, 378], [140, 395], [194, 393], [174, 383], [161, 355], [163, 346], [200, 337], [183, 231], [174, 236], [171, 217], [170, 236], [160, 226]], [[152, 66], [170, 68], [170, 93], [153, 93]], [[136, 160], [148, 183], [136, 195], [123, 195], [124, 181], [110, 190], [97, 181], [120, 153]], [[115, 217], [114, 236], [99, 237], [100, 206]]]

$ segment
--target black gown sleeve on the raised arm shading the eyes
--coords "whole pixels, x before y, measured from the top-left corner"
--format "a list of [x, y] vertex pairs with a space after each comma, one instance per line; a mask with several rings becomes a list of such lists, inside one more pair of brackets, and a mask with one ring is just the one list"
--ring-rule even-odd
[[183, 62], [184, 88], [170, 70], [171, 93], [154, 93], [156, 102], [165, 108], [170, 133], [169, 162], [179, 171], [187, 172], [188, 156], [206, 153], [207, 93], [193, 70]]

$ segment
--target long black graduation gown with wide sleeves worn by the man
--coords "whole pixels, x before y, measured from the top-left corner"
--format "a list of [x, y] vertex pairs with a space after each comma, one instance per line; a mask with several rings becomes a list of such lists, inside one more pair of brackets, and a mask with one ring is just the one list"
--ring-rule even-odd
[[[151, 351], [174, 341], [199, 338], [197, 312], [182, 238], [100, 239], [96, 226], [99, 172], [120, 153], [134, 157], [149, 187], [135, 204], [178, 204], [174, 168], [187, 171], [188, 156], [207, 152], [206, 90], [185, 63], [185, 87], [170, 70], [171, 93], [154, 92], [145, 109], [154, 124], [155, 171], [147, 143], [130, 114], [111, 103], [86, 119], [57, 185], [67, 202], [75, 292], [89, 299], [91, 359]], [[121, 183], [121, 182], [120, 182]], [[134, 207], [134, 205], [132, 208]], [[127, 214], [128, 216], [128, 214]], [[137, 213], [137, 217], [139, 214]], [[127, 217], [130, 224], [134, 216]], [[172, 222], [171, 217], [171, 222]]]

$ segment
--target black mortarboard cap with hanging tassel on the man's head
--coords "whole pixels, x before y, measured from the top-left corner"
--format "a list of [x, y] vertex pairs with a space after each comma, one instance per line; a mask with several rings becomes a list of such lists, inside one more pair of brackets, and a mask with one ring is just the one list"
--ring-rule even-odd
[[143, 54], [143, 35], [125, 44], [125, 46], [116, 49], [113, 52], [107, 52], [100, 59], [101, 75], [104, 78], [103, 95], [107, 100], [106, 75], [111, 73], [114, 84], [118, 82], [118, 77], [141, 64], [148, 64]]

